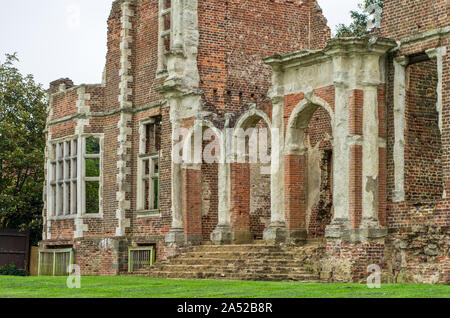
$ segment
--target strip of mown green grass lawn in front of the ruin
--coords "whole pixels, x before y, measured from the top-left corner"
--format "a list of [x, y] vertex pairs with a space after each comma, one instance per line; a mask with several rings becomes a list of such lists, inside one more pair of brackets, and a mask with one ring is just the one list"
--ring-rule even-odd
[[0, 276], [0, 298], [450, 298], [450, 286], [301, 284], [167, 280], [147, 277], [82, 277], [81, 289], [66, 287], [65, 277]]

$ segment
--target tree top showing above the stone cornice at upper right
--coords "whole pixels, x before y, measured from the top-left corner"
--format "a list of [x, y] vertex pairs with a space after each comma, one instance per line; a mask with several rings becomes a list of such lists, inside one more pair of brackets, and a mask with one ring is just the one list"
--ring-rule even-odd
[[367, 10], [373, 5], [377, 5], [380, 8], [383, 8], [383, 2], [384, 0], [364, 0], [363, 3], [358, 4], [358, 11], [350, 11], [353, 22], [349, 26], [339, 24], [336, 30], [336, 37], [352, 37], [365, 35], [367, 32], [369, 19]]

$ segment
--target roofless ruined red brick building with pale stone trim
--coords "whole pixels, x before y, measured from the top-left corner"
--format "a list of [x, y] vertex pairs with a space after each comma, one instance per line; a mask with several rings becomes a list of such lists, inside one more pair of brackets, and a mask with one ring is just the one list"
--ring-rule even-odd
[[[330, 39], [315, 0], [115, 1], [103, 82], [50, 86], [41, 273], [448, 283], [448, 10]], [[187, 160], [249, 128], [271, 163]]]

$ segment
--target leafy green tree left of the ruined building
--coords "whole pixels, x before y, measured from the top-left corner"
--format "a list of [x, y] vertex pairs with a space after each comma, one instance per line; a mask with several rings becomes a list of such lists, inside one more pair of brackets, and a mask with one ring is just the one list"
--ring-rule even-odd
[[16, 54], [0, 64], [0, 228], [42, 234], [45, 91], [32, 75], [14, 66]]

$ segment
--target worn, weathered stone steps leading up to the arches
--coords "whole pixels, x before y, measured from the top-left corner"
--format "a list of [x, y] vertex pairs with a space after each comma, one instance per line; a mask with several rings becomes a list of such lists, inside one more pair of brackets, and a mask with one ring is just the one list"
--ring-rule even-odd
[[318, 246], [200, 245], [130, 275], [169, 279], [318, 282], [308, 258]]

